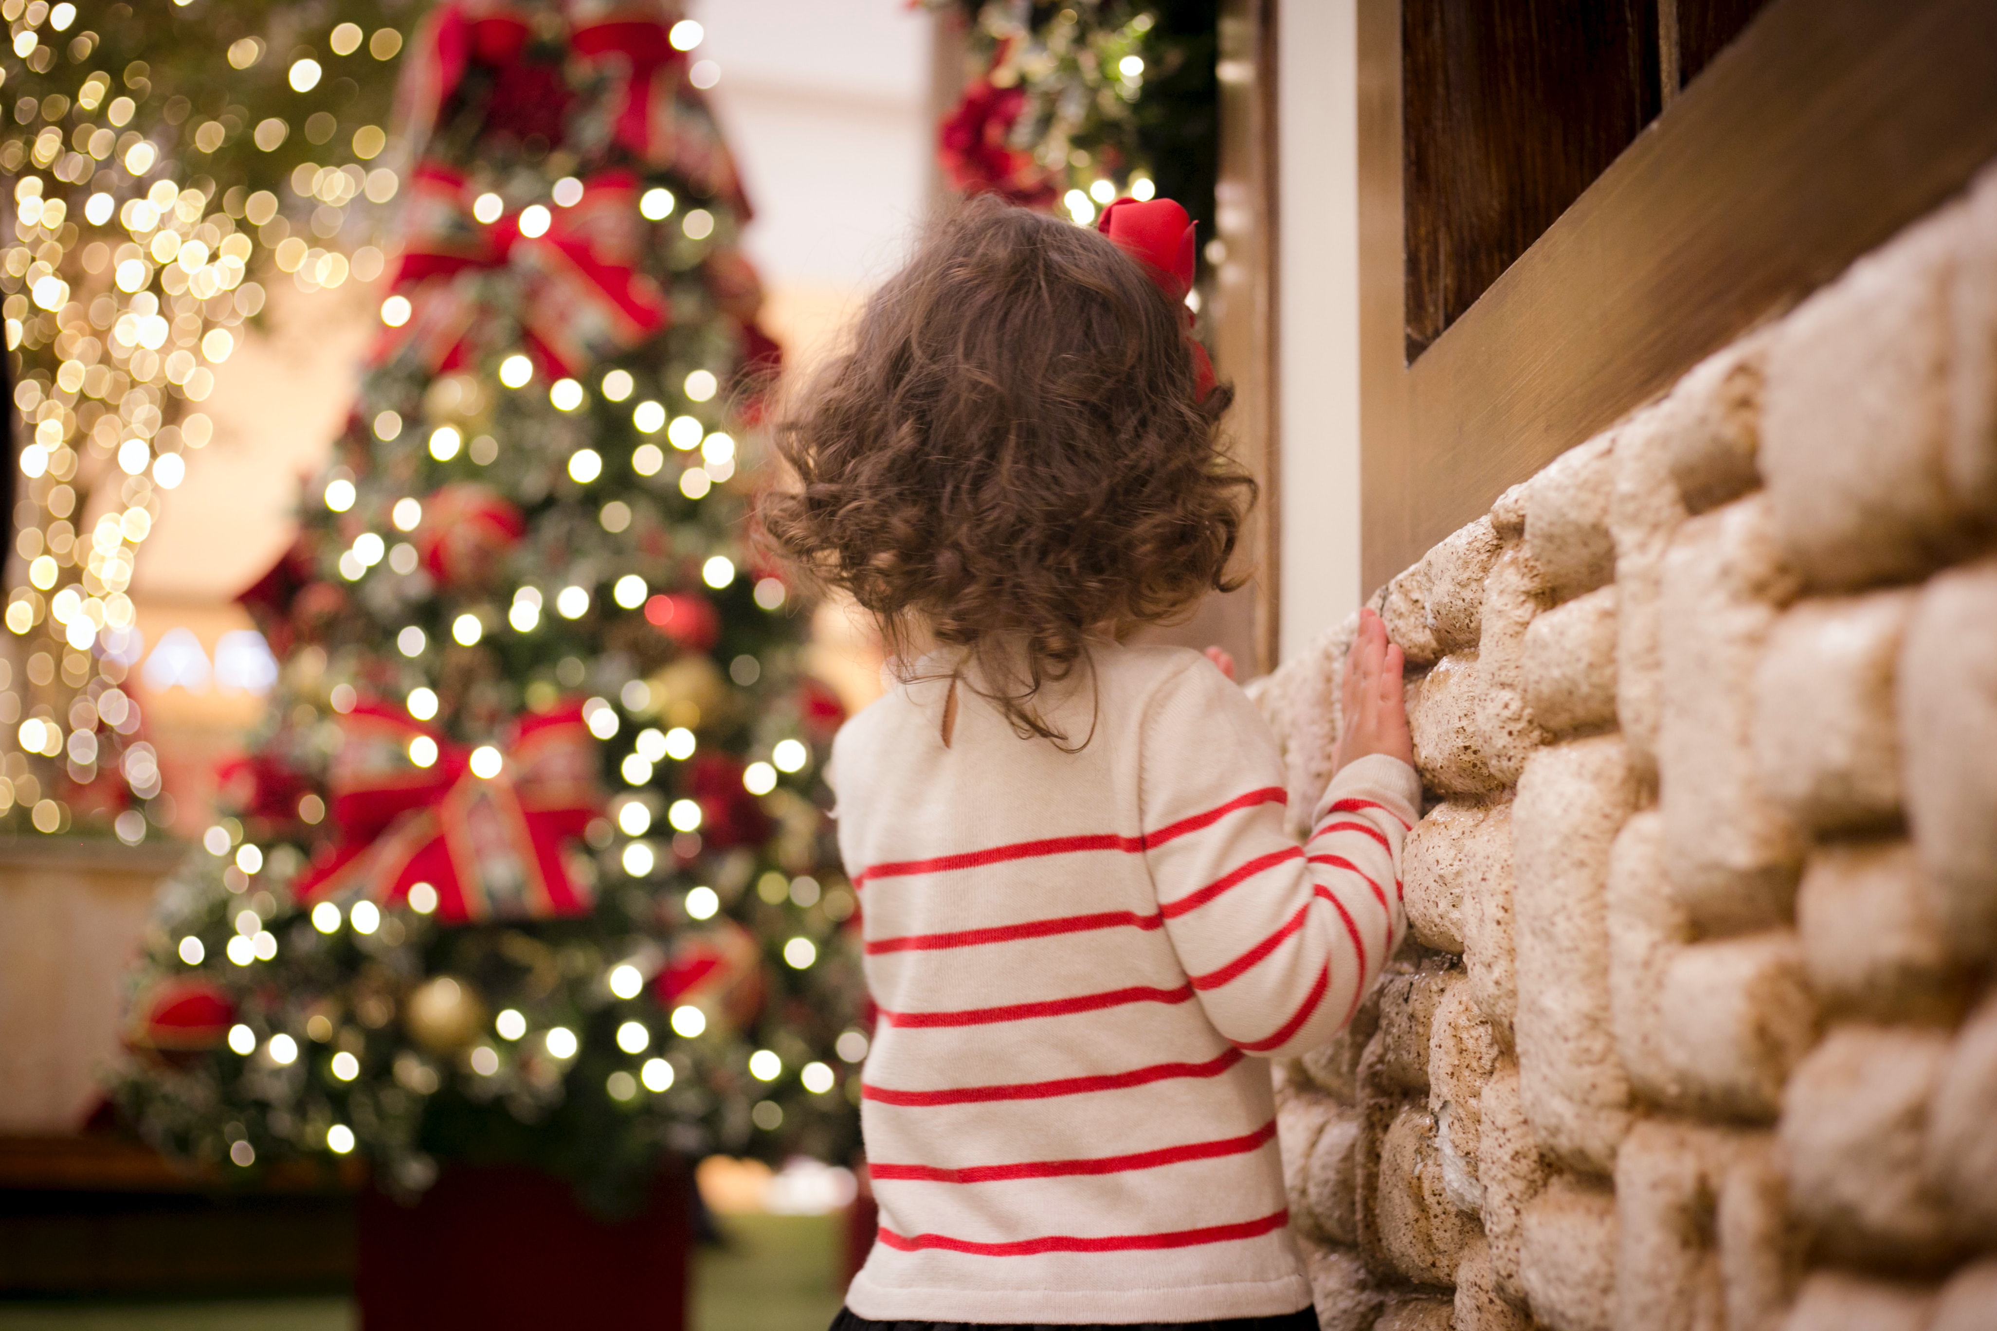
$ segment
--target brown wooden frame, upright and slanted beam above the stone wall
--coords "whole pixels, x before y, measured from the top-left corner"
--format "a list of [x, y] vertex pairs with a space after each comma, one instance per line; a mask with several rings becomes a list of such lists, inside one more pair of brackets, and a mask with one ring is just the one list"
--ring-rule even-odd
[[1989, 0], [1775, 0], [1410, 367], [1400, 0], [1358, 38], [1368, 589], [1997, 156]]

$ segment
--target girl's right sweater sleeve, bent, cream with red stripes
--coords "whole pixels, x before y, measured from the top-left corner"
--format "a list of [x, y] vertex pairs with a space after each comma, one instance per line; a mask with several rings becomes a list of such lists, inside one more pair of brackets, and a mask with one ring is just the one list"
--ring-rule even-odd
[[1388, 756], [1342, 768], [1298, 846], [1282, 830], [1276, 740], [1206, 661], [1158, 686], [1140, 744], [1144, 856], [1206, 1018], [1268, 1058], [1332, 1040], [1406, 932], [1400, 848], [1420, 810], [1414, 768]]

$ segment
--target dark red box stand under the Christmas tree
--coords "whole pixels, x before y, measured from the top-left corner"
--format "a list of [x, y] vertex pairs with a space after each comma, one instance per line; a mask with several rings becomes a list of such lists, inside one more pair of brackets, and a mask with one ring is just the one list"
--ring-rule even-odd
[[643, 1213], [605, 1221], [569, 1183], [451, 1167], [413, 1207], [359, 1201], [361, 1331], [685, 1331], [689, 1181], [665, 1173]]

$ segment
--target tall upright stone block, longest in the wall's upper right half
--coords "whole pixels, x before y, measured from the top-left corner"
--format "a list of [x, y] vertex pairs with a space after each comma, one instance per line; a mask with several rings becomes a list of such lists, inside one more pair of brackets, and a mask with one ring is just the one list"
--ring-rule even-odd
[[1793, 591], [1765, 499], [1739, 499], [1679, 527], [1662, 587], [1665, 872], [1701, 930], [1779, 924], [1803, 840], [1753, 760], [1753, 674]]

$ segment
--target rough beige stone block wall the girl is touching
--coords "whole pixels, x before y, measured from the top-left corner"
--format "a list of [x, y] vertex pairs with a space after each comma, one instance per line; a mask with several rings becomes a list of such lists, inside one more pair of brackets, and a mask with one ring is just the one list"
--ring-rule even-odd
[[[1384, 589], [1412, 940], [1276, 1070], [1328, 1331], [1997, 1327], [1993, 531], [1997, 178]], [[1292, 810], [1350, 633], [1254, 690]]]

